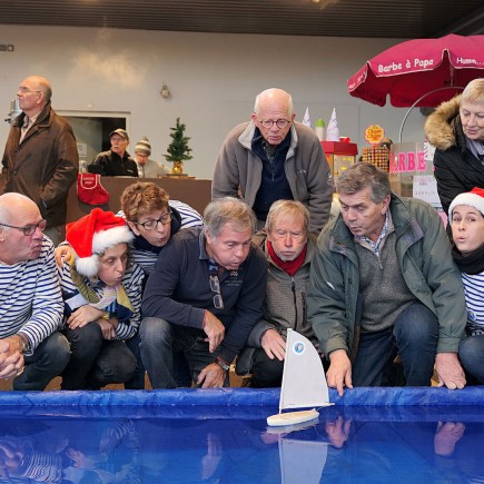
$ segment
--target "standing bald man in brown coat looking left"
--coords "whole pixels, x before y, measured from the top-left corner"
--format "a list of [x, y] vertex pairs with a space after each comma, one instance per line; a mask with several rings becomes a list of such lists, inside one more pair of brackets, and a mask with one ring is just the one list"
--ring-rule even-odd
[[31, 198], [47, 220], [45, 234], [60, 244], [65, 236], [67, 196], [77, 179], [79, 156], [72, 128], [51, 105], [50, 82], [30, 76], [17, 92], [22, 112], [13, 120], [2, 158], [4, 192]]

